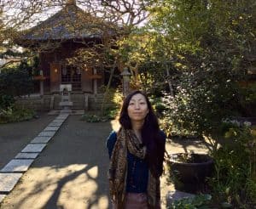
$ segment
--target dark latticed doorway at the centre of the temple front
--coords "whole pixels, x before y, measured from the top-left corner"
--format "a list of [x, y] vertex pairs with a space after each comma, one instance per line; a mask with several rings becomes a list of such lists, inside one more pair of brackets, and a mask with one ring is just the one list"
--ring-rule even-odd
[[61, 84], [72, 84], [73, 91], [81, 91], [81, 70], [73, 65], [61, 65]]

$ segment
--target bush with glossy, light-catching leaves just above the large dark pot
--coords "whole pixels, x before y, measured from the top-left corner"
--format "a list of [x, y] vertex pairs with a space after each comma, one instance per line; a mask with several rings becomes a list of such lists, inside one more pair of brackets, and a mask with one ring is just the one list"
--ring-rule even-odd
[[215, 137], [222, 119], [235, 109], [236, 86], [231, 74], [211, 65], [193, 73], [184, 72], [177, 81], [175, 96], [166, 94], [165, 115], [177, 129]]

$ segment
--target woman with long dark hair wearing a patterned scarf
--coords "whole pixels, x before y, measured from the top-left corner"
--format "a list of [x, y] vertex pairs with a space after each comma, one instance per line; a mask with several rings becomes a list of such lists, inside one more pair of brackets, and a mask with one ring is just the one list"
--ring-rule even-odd
[[148, 97], [141, 91], [123, 103], [119, 132], [107, 141], [109, 190], [114, 208], [160, 208], [166, 136]]

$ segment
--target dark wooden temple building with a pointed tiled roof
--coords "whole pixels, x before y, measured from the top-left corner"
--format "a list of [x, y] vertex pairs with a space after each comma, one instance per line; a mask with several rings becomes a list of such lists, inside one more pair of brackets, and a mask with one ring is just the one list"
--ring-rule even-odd
[[[40, 82], [39, 91], [44, 97], [44, 105], [55, 108], [55, 100], [60, 100], [57, 95], [61, 85], [71, 85], [73, 95], [86, 94], [89, 100], [98, 94], [106, 80], [104, 66], [100, 69], [83, 62], [82, 65], [70, 64], [67, 59], [72, 58], [78, 49], [102, 44], [106, 36], [115, 36], [114, 27], [79, 8], [75, 0], [67, 0], [59, 12], [23, 31], [18, 44], [37, 50], [39, 54], [39, 73], [34, 79]], [[80, 98], [84, 101], [83, 96]], [[83, 105], [78, 108], [83, 108]]]

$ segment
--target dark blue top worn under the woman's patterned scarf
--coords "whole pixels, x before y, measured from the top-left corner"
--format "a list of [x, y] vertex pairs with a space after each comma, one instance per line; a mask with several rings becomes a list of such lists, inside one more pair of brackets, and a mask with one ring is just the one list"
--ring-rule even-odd
[[[161, 132], [165, 136], [165, 133]], [[117, 140], [115, 132], [110, 133], [107, 139], [107, 148], [109, 159], [113, 152], [113, 146]], [[145, 193], [147, 192], [148, 185], [148, 164], [145, 160], [132, 155], [129, 150], [127, 151], [127, 178], [126, 178], [126, 192], [131, 193]]]

